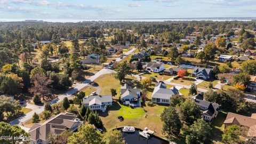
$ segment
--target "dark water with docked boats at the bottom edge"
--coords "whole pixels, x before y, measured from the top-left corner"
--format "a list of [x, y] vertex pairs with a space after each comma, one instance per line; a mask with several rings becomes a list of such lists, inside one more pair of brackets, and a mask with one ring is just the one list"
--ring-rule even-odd
[[134, 133], [122, 133], [127, 144], [169, 144], [168, 141], [158, 138], [155, 135], [151, 135], [149, 139], [143, 138], [140, 136], [138, 129]]

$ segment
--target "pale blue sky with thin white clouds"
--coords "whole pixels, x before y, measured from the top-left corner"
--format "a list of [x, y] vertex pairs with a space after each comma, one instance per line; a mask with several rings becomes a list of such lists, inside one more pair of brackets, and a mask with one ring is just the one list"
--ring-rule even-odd
[[256, 17], [256, 0], [0, 0], [0, 19]]

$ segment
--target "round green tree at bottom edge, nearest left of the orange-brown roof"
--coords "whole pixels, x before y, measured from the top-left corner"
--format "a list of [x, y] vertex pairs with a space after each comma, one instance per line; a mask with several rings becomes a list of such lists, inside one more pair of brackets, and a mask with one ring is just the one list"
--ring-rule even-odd
[[186, 143], [200, 144], [211, 143], [212, 128], [202, 118], [197, 119], [189, 128], [189, 134], [186, 136]]

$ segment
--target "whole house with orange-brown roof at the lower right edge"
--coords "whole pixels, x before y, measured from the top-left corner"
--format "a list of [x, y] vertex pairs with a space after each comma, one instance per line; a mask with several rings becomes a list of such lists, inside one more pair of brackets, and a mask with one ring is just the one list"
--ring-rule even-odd
[[228, 112], [223, 124], [225, 125], [225, 129], [229, 125], [238, 125], [250, 128], [256, 125], [256, 117], [255, 114], [252, 114], [251, 117], [248, 117]]

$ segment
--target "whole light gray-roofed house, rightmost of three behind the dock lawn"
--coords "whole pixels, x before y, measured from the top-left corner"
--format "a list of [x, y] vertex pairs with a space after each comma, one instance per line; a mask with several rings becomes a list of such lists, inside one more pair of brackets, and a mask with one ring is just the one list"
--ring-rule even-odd
[[164, 83], [158, 83], [151, 95], [152, 102], [169, 104], [172, 95], [179, 94], [179, 90], [174, 86], [171, 89], [166, 89]]

